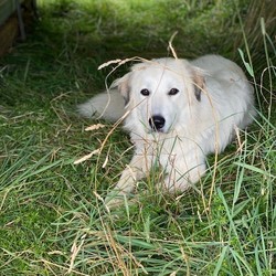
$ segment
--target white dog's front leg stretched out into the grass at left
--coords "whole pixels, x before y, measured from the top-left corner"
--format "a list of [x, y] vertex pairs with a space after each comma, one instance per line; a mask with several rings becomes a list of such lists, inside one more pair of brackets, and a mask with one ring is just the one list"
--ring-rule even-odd
[[145, 155], [135, 155], [123, 171], [121, 177], [114, 188], [114, 190], [107, 194], [105, 203], [107, 206], [116, 206], [121, 204], [124, 195], [129, 194], [135, 189], [137, 180], [144, 178], [150, 170], [151, 160]]

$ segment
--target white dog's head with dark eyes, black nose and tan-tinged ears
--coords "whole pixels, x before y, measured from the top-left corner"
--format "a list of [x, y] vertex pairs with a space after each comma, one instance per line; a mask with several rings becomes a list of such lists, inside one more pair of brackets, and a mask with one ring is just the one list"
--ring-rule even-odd
[[159, 59], [134, 65], [113, 86], [125, 98], [130, 120], [135, 117], [147, 132], [166, 134], [200, 104], [204, 78], [188, 61]]

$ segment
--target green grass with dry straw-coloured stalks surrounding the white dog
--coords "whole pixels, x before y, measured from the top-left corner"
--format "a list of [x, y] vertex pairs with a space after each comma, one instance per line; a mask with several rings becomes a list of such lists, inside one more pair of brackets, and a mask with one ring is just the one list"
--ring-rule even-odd
[[[270, 13], [252, 38], [250, 1], [38, 2], [41, 21], [0, 60], [0, 275], [275, 275]], [[181, 57], [215, 52], [242, 66], [248, 62], [259, 115], [241, 131], [242, 146], [234, 141], [216, 166], [209, 158], [198, 192], [162, 194], [153, 171], [139, 183], [149, 192], [138, 203], [126, 201], [110, 213], [103, 198], [131, 145], [118, 127], [99, 156], [73, 164], [113, 129], [84, 131], [98, 121], [79, 118], [75, 106], [104, 88], [109, 68], [98, 65], [166, 56], [174, 31]], [[254, 41], [262, 42], [257, 49]]]

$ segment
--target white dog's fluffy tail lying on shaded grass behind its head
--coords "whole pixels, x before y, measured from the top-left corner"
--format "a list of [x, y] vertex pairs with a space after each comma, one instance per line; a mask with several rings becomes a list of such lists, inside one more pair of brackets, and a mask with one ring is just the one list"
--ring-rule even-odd
[[125, 102], [117, 89], [104, 92], [77, 106], [78, 113], [86, 118], [104, 118], [116, 121], [125, 114]]

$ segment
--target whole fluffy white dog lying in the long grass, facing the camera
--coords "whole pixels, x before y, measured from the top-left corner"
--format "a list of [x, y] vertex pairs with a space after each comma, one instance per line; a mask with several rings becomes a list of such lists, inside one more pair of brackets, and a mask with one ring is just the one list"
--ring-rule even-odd
[[152, 164], [164, 171], [162, 187], [185, 190], [204, 174], [205, 156], [222, 151], [235, 127], [245, 128], [255, 115], [253, 88], [244, 73], [219, 55], [146, 61], [112, 88], [79, 105], [86, 117], [117, 120], [128, 113], [125, 128], [135, 153], [107, 197], [109, 204], [130, 193]]

